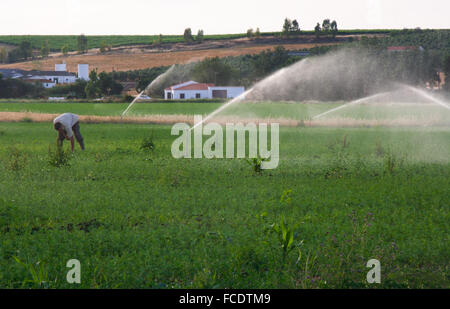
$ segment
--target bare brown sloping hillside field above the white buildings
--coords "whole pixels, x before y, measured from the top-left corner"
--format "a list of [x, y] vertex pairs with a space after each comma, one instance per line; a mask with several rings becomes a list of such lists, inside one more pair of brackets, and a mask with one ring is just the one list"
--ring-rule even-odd
[[313, 35], [303, 35], [291, 39], [264, 37], [261, 39], [238, 38], [230, 40], [208, 40], [203, 43], [163, 43], [155, 45], [130, 45], [113, 47], [100, 53], [99, 49], [90, 49], [86, 54], [52, 53], [48, 58], [12, 64], [2, 64], [0, 68], [19, 68], [25, 70], [53, 70], [56, 63], [65, 61], [67, 69], [77, 71], [77, 64], [88, 63], [98, 71], [127, 71], [187, 63], [205, 57], [227, 57], [244, 54], [257, 54], [265, 49], [283, 46], [288, 50], [309, 49], [315, 46], [333, 45], [358, 39], [358, 35], [341, 35], [336, 38], [316, 39]]

